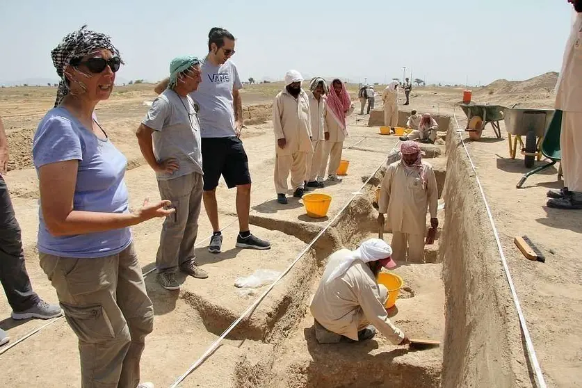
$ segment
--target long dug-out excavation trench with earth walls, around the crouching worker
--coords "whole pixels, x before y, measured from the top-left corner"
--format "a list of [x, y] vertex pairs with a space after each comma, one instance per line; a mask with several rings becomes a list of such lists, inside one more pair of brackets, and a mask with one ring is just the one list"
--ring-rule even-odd
[[[328, 255], [377, 236], [375, 191], [385, 168], [369, 179], [312, 250], [277, 285], [229, 339], [268, 346], [246, 353], [234, 367], [236, 387], [529, 387], [519, 323], [499, 261], [483, 200], [460, 135], [449, 127], [444, 147], [429, 162], [439, 186], [441, 227], [423, 262], [398, 263], [405, 287], [391, 320], [411, 337], [437, 339], [440, 348], [412, 351], [381, 334], [362, 343], [320, 345], [307, 307]], [[367, 177], [366, 177], [367, 178]], [[364, 179], [367, 180], [367, 179]], [[251, 216], [253, 225], [309, 243], [322, 224]], [[427, 219], [428, 223], [428, 219]], [[390, 241], [387, 231], [385, 239]], [[277, 289], [279, 287], [279, 289]], [[277, 291], [278, 290], [278, 291]], [[195, 294], [183, 296], [211, 332], [238, 316]], [[268, 351], [266, 350], [268, 348]]]

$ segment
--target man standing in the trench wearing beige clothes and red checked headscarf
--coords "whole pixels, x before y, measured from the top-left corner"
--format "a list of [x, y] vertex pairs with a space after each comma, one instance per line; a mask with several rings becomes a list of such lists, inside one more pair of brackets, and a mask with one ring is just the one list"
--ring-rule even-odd
[[[437, 228], [438, 189], [433, 167], [422, 160], [418, 143], [407, 140], [401, 145], [402, 159], [388, 166], [382, 180], [378, 202], [378, 223], [387, 214], [392, 232], [394, 260], [423, 262], [426, 209], [430, 226]], [[407, 252], [408, 251], [408, 252]]]

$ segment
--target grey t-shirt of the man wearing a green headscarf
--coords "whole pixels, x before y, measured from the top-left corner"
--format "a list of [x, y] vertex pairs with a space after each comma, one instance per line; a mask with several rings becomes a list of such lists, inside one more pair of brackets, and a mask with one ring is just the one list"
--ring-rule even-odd
[[202, 175], [200, 122], [190, 96], [180, 97], [174, 90], [164, 90], [154, 99], [142, 123], [154, 129], [152, 137], [156, 159], [175, 158], [180, 164], [173, 174], [156, 172], [159, 181], [191, 172]]

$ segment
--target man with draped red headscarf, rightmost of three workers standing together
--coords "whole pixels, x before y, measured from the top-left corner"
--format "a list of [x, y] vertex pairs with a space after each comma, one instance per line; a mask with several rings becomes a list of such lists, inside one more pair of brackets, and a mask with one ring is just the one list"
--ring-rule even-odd
[[332, 87], [330, 88], [330, 95], [327, 101], [328, 106], [325, 110], [325, 124], [327, 124], [330, 136], [325, 140], [323, 165], [328, 165], [329, 161], [329, 181], [341, 182], [342, 179], [337, 177], [337, 169], [341, 162], [343, 140], [348, 136], [346, 117], [353, 113], [355, 104], [352, 104], [346, 86], [339, 79], [332, 81]]

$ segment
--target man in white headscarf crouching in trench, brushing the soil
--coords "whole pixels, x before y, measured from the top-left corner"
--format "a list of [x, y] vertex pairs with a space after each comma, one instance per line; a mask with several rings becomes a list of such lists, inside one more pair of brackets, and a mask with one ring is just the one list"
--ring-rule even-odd
[[388, 318], [388, 290], [376, 282], [382, 267], [396, 266], [391, 254], [388, 243], [370, 239], [357, 250], [342, 249], [330, 256], [309, 307], [319, 343], [365, 341], [374, 337], [375, 328], [395, 345], [410, 343]]

